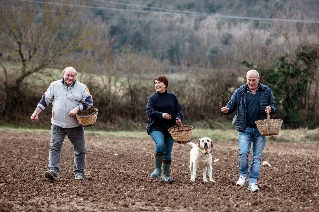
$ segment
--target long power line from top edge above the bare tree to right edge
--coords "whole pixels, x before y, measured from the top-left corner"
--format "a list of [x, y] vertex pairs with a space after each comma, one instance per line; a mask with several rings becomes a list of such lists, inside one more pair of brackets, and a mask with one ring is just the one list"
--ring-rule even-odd
[[[158, 12], [158, 11], [143, 11], [143, 10], [131, 10], [131, 9], [120, 9], [120, 8], [109, 8], [109, 7], [96, 7], [96, 6], [88, 6], [88, 5], [78, 5], [78, 4], [64, 4], [64, 3], [56, 3], [56, 2], [41, 2], [36, 0], [17, 0], [23, 2], [33, 2], [40, 4], [53, 4], [53, 5], [64, 5], [64, 6], [74, 6], [74, 7], [83, 7], [83, 8], [91, 8], [91, 9], [104, 9], [104, 10], [117, 10], [117, 11], [132, 11], [132, 12], [140, 12], [140, 13], [160, 13], [167, 15], [186, 15], [186, 16], [197, 16], [197, 17], [213, 17], [213, 18], [231, 18], [231, 19], [247, 19], [247, 20], [259, 20], [259, 21], [277, 21], [277, 22], [293, 22], [293, 23], [315, 23], [319, 24], [319, 20], [293, 20], [293, 19], [275, 19], [275, 18], [251, 18], [251, 17], [242, 17], [242, 16], [229, 16], [229, 15], [218, 15], [218, 14], [208, 14], [208, 13], [197, 13], [191, 11], [178, 11], [179, 13], [173, 12]], [[102, 0], [100, 0], [102, 1]], [[115, 3], [115, 2], [110, 2]], [[122, 3], [124, 4], [124, 3]], [[134, 6], [134, 4], [131, 4]], [[141, 5], [138, 5], [141, 6]], [[142, 6], [145, 7], [145, 6]], [[147, 7], [152, 9], [152, 7]], [[165, 8], [158, 8], [165, 9]]]

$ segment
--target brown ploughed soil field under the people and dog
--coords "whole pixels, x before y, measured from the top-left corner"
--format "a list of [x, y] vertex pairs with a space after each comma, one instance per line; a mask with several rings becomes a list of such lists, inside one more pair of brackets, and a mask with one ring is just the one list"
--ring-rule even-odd
[[[204, 135], [203, 135], [204, 136]], [[87, 136], [85, 181], [74, 180], [73, 150], [62, 149], [59, 181], [44, 177], [49, 135], [1, 133], [1, 211], [319, 211], [318, 143], [266, 143], [259, 192], [235, 185], [237, 142], [214, 142], [214, 182], [189, 181], [189, 145], [175, 144], [170, 176], [150, 178], [152, 140]], [[196, 142], [194, 140], [194, 142]], [[115, 155], [118, 154], [118, 155]]]

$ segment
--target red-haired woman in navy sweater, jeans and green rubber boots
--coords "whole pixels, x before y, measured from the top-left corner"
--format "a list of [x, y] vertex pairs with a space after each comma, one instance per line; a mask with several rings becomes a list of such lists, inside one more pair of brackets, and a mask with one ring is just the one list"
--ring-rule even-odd
[[162, 169], [162, 181], [173, 182], [169, 178], [171, 167], [171, 153], [174, 139], [168, 132], [168, 128], [179, 124], [183, 120], [182, 107], [175, 94], [167, 92], [168, 79], [161, 75], [154, 79], [155, 94], [151, 95], [146, 105], [148, 115], [147, 133], [151, 135], [156, 147], [154, 152], [155, 170], [152, 178], [159, 178]]

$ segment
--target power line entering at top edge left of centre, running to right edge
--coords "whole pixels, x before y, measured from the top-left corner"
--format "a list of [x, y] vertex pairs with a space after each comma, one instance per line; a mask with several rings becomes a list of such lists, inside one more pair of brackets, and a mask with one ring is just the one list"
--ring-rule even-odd
[[105, 0], [91, 0], [91, 1], [104, 2], [104, 3], [108, 3], [108, 4], [118, 4], [118, 5], [126, 5], [126, 6], [140, 7], [140, 8], [153, 9], [153, 10], [178, 12], [178, 14], [196, 14], [196, 15], [201, 15], [201, 16], [211, 16], [211, 17], [215, 17], [215, 18], [234, 18], [234, 19], [263, 20], [263, 21], [281, 21], [281, 22], [295, 22], [295, 23], [319, 23], [319, 20], [295, 20], [295, 19], [276, 19], [276, 18], [253, 18], [253, 17], [244, 17], [244, 16], [231, 16], [231, 15], [209, 14], [209, 13], [202, 13], [202, 12], [172, 10], [172, 9], [166, 9], [166, 8], [150, 7], [150, 6], [143, 6], [143, 5], [137, 5], [137, 4], [126, 4], [126, 3], [119, 3], [119, 2], [105, 1]]

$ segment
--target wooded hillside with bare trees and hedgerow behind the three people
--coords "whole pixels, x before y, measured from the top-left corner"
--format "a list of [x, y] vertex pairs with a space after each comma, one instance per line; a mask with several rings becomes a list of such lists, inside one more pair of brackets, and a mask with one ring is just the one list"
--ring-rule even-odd
[[254, 68], [284, 127], [315, 128], [318, 11], [315, 0], [3, 1], [3, 121], [29, 117], [50, 81], [62, 77], [52, 70], [73, 66], [103, 123], [145, 123], [160, 74], [169, 76], [187, 120], [211, 123], [226, 118], [220, 107]]

